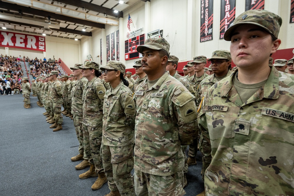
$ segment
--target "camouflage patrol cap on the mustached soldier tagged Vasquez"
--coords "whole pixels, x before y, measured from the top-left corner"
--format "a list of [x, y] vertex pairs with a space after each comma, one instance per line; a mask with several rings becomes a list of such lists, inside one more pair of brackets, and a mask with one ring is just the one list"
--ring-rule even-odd
[[142, 53], [145, 47], [153, 50], [163, 49], [167, 51], [168, 54], [170, 54], [170, 44], [163, 37], [153, 37], [146, 39], [144, 45], [137, 47], [137, 51]]

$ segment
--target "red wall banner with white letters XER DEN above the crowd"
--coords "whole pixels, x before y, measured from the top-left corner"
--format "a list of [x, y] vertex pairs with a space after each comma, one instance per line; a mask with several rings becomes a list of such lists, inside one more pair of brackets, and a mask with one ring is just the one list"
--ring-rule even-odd
[[46, 52], [45, 37], [0, 31], [0, 46]]

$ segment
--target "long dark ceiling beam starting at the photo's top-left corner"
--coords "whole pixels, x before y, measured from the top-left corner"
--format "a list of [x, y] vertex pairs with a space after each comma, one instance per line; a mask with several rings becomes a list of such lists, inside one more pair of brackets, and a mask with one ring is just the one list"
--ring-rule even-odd
[[64, 16], [62, 14], [55, 14], [55, 13], [49, 12], [49, 11], [34, 9], [31, 7], [21, 6], [21, 5], [17, 5], [17, 4], [11, 4], [11, 3], [4, 2], [4, 1], [0, 1], [0, 5], [1, 5], [1, 8], [3, 8], [3, 9], [14, 10], [14, 11], [21, 10], [23, 13], [43, 16], [45, 18], [48, 17], [48, 15], [49, 15], [49, 16], [51, 16], [52, 19], [58, 19], [58, 20], [63, 20], [63, 21], [67, 21], [67, 22], [83, 24], [83, 25], [87, 25], [90, 27], [96, 27], [99, 29], [105, 29], [105, 24], [91, 22], [88, 20], [83, 20], [83, 19], [78, 19], [78, 18], [72, 18], [72, 17]]

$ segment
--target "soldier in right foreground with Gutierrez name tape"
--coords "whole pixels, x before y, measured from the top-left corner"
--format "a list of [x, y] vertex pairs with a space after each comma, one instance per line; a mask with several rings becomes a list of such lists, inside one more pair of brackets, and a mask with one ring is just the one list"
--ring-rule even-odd
[[281, 43], [281, 24], [270, 11], [248, 10], [224, 34], [238, 69], [213, 85], [198, 108], [211, 149], [206, 195], [293, 195], [294, 77], [268, 63]]

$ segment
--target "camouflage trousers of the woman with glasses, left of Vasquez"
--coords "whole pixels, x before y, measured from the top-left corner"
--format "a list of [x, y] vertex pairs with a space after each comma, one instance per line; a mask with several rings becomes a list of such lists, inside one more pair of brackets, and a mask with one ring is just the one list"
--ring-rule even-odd
[[102, 161], [108, 187], [121, 195], [135, 195], [131, 171], [134, 168], [133, 145], [101, 145]]

